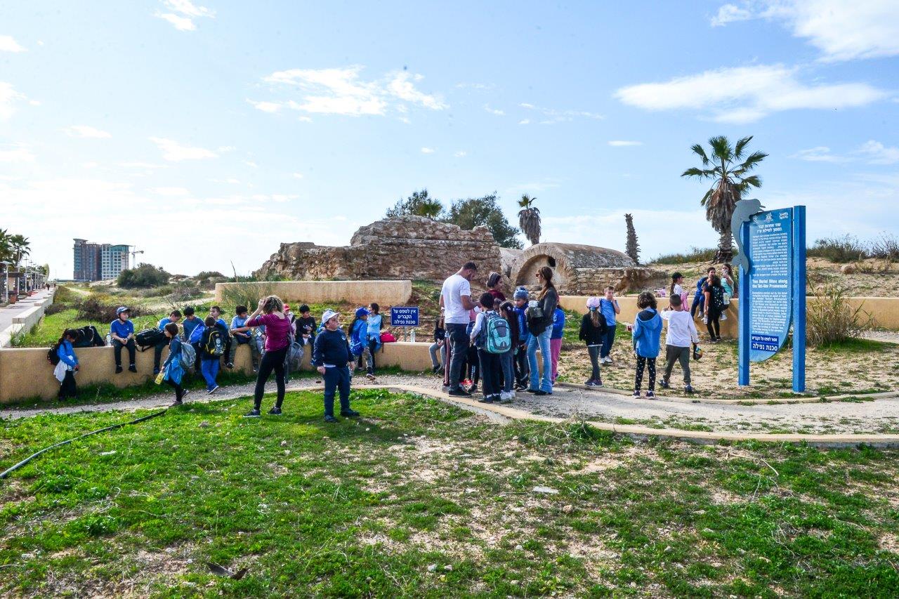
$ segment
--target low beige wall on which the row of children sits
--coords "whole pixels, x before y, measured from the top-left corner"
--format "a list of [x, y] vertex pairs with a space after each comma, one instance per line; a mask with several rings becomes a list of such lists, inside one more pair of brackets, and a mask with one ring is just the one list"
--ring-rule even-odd
[[[378, 366], [400, 366], [407, 371], [430, 371], [431, 356], [428, 353], [430, 343], [396, 342], [384, 344], [375, 356]], [[98, 385], [112, 383], [116, 387], [125, 388], [140, 385], [153, 376], [153, 350], [138, 352], [136, 365], [138, 372], [128, 370], [115, 373], [115, 360], [111, 347], [85, 347], [76, 349], [81, 370], [76, 374], [78, 385]], [[168, 350], [163, 352], [163, 360]], [[311, 350], [303, 355], [302, 368], [311, 369], [309, 364]], [[127, 353], [122, 362], [127, 362]], [[251, 373], [253, 365], [250, 351], [246, 345], [237, 348], [235, 370]], [[195, 374], [193, 376], [200, 376]], [[0, 404], [9, 404], [23, 399], [55, 398], [59, 390], [59, 382], [53, 377], [53, 367], [47, 362], [47, 348], [22, 348], [0, 350]], [[166, 385], [160, 386], [160, 392], [168, 392]]]

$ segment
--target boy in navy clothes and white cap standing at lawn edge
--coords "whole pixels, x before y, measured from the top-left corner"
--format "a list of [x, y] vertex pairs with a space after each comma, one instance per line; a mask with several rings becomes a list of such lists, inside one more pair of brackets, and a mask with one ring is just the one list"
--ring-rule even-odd
[[325, 377], [325, 422], [338, 422], [334, 417], [334, 394], [340, 391], [340, 415], [359, 416], [350, 409], [350, 366], [353, 360], [350, 344], [340, 328], [340, 315], [325, 310], [322, 331], [316, 335], [312, 365]]

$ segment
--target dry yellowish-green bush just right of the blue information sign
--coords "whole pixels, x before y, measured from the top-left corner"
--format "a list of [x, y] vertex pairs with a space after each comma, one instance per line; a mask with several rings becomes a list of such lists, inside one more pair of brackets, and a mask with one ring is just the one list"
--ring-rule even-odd
[[826, 346], [858, 337], [871, 326], [872, 318], [847, 301], [849, 293], [841, 282], [823, 280], [814, 287], [806, 309], [806, 342]]

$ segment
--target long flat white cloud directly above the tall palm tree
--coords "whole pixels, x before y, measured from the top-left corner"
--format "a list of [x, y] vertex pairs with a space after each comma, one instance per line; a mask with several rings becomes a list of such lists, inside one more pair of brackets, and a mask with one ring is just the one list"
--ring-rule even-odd
[[719, 68], [663, 83], [628, 85], [615, 92], [622, 103], [650, 111], [710, 112], [713, 121], [758, 121], [771, 112], [850, 108], [876, 102], [886, 93], [868, 84], [807, 85], [796, 67], [758, 65]]

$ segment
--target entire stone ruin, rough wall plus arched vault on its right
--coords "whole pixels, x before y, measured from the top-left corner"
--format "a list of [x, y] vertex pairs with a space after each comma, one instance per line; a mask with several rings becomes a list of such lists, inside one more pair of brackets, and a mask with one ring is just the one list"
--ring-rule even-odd
[[383, 219], [361, 227], [349, 246], [281, 244], [254, 273], [257, 279], [365, 281], [412, 279], [441, 282], [468, 261], [478, 266], [476, 289], [491, 271], [512, 286], [533, 287], [540, 266], [553, 269], [556, 287], [569, 295], [595, 295], [607, 285], [619, 292], [663, 286], [664, 273], [637, 266], [627, 255], [597, 246], [542, 243], [526, 250], [501, 248], [485, 227], [464, 230], [417, 216]]

